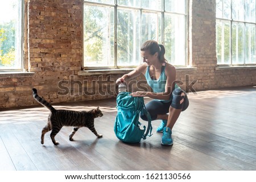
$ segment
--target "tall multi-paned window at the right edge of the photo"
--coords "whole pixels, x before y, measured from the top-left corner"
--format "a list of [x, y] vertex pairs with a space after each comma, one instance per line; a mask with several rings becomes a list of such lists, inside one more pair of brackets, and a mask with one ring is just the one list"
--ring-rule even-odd
[[256, 64], [255, 0], [216, 1], [218, 64]]

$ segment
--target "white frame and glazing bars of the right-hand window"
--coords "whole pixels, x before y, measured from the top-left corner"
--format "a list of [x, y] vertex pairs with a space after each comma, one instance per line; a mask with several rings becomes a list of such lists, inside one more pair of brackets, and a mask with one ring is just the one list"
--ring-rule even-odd
[[[224, 18], [224, 1], [225, 0], [221, 0], [222, 1], [222, 17], [217, 17], [217, 3], [216, 3], [216, 54], [218, 53], [217, 52], [217, 22], [229, 22], [229, 64], [222, 64], [222, 63], [218, 63], [218, 60], [217, 60], [217, 66], [219, 67], [237, 67], [237, 66], [243, 66], [243, 67], [250, 67], [250, 66], [255, 66], [256, 65], [256, 54], [255, 54], [255, 58], [254, 58], [254, 63], [248, 63], [250, 62], [249, 60], [246, 61], [246, 52], [248, 51], [246, 49], [246, 25], [251, 25], [251, 24], [254, 24], [254, 28], [256, 30], [256, 19], [255, 19], [255, 22], [248, 22], [246, 21], [246, 8], [245, 8], [245, 0], [243, 0], [243, 9], [244, 9], [244, 12], [243, 12], [243, 20], [235, 20], [233, 19], [233, 8], [232, 8], [232, 4], [233, 4], [233, 1], [236, 1], [236, 0], [230, 0], [230, 6], [229, 6], [229, 10], [230, 10], [230, 17], [229, 18]], [[255, 10], [256, 10], [256, 3], [255, 3]], [[256, 11], [255, 11], [255, 17], [256, 17]], [[233, 52], [234, 50], [232, 49], [232, 43], [234, 41], [237, 41], [234, 40], [234, 38], [232, 37], [232, 33], [233, 33], [233, 25], [236, 24], [243, 24], [243, 63], [234, 63], [234, 60], [232, 59], [233, 57]], [[222, 23], [222, 26], [221, 28], [223, 29], [223, 23]], [[255, 31], [255, 37], [256, 37], [256, 31]], [[222, 35], [221, 35], [221, 38], [222, 38]], [[221, 42], [221, 52], [224, 52], [224, 42], [223, 42], [223, 39], [222, 38], [222, 42]], [[255, 43], [254, 45], [256, 44], [256, 39], [255, 39]], [[221, 57], [224, 57], [224, 55], [221, 55]], [[217, 57], [218, 59], [218, 57]], [[225, 60], [221, 60], [221, 62], [224, 62]]]

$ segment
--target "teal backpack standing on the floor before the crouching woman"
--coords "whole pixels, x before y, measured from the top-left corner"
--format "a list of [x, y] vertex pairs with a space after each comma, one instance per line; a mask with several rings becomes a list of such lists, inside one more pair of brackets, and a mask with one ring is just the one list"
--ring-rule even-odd
[[[139, 114], [145, 114], [148, 126], [140, 129]], [[129, 92], [121, 92], [117, 96], [117, 116], [115, 117], [114, 132], [117, 138], [127, 143], [137, 143], [151, 136], [151, 117], [144, 105], [143, 97], [130, 96]]]

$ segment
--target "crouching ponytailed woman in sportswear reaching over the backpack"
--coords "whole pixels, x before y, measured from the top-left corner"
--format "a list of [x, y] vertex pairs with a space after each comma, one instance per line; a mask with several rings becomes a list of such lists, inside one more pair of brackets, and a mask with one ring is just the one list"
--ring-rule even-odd
[[[130, 78], [141, 75], [146, 77], [147, 84], [150, 85], [153, 92], [133, 92], [133, 97], [150, 97], [154, 100], [146, 104], [146, 108], [151, 115], [152, 120], [162, 119], [162, 123], [156, 130], [163, 133], [162, 144], [172, 145], [172, 127], [174, 127], [181, 111], [188, 107], [188, 97], [183, 90], [175, 84], [176, 69], [173, 65], [167, 63], [164, 57], [166, 52], [162, 44], [154, 40], [148, 40], [141, 47], [141, 56], [143, 64], [139, 65], [134, 71], [123, 75], [116, 81], [119, 84]], [[169, 113], [169, 114], [167, 114]], [[143, 120], [147, 120], [141, 115]]]

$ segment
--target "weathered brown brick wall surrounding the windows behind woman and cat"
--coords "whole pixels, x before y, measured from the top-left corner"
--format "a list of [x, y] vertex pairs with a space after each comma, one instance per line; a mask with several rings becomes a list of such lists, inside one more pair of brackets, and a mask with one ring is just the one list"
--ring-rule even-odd
[[[82, 65], [81, 0], [25, 2], [25, 68], [34, 74], [0, 75], [0, 108], [37, 104], [31, 94], [33, 87], [52, 103], [114, 97], [117, 88], [111, 80], [120, 74], [78, 74]], [[197, 80], [195, 90], [255, 85], [255, 68], [216, 69], [215, 1], [193, 0], [189, 4], [188, 53], [193, 68], [177, 69], [177, 80], [184, 88]]]

